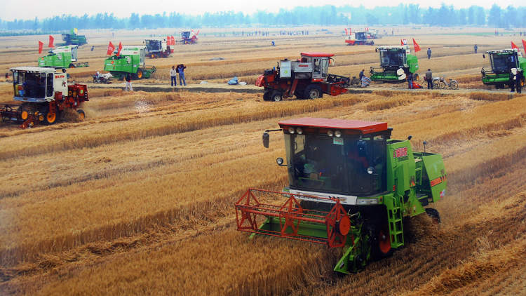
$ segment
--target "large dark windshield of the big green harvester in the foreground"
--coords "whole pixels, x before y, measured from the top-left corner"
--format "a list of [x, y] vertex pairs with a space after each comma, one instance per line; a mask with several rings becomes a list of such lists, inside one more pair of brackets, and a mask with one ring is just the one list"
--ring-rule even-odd
[[285, 147], [291, 188], [356, 196], [385, 190], [386, 141], [382, 135], [360, 140], [285, 134]]

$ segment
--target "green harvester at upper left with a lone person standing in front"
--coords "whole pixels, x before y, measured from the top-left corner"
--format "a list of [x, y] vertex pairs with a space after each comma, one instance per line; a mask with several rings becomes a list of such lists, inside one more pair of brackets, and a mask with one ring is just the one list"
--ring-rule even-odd
[[123, 46], [119, 56], [115, 52], [115, 55], [104, 60], [104, 71], [117, 79], [124, 79], [128, 73], [133, 79], [149, 78], [156, 68], [144, 65], [145, 54], [146, 46]]

